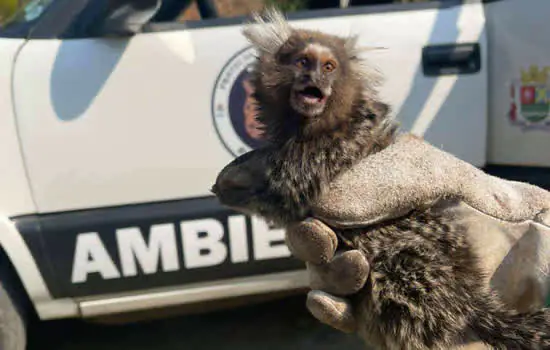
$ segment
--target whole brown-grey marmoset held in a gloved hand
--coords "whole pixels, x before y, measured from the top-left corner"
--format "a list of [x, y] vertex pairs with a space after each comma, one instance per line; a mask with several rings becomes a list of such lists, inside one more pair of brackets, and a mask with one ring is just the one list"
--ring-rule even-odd
[[[231, 162], [212, 191], [286, 227], [310, 214], [338, 174], [392, 144], [398, 127], [356, 37], [292, 28], [274, 9], [255, 19], [244, 35], [259, 53], [251, 82], [268, 144]], [[357, 317], [369, 319], [359, 332], [381, 349], [450, 349], [471, 333], [497, 349], [550, 349], [550, 312], [506, 308], [456, 222], [427, 209], [337, 230], [370, 263], [353, 296]]]

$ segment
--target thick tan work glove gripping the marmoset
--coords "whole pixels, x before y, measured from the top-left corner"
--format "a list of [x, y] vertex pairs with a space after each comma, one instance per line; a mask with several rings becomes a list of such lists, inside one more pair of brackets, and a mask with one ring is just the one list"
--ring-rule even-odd
[[[254, 159], [235, 162], [225, 173], [229, 183], [218, 178], [218, 191], [253, 193], [260, 174], [254, 173]], [[287, 228], [290, 250], [309, 271], [310, 312], [344, 332], [369, 322], [356, 319], [351, 302], [368, 279], [368, 257], [337, 251], [330, 227], [365, 227], [436, 205], [463, 221], [488, 285], [505, 303], [519, 311], [544, 305], [550, 289], [550, 193], [487, 175], [405, 134], [335, 179], [315, 203], [314, 218]]]

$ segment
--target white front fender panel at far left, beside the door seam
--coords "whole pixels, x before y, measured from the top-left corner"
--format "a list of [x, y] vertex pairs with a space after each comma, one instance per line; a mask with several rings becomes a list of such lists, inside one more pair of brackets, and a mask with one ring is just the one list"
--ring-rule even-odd
[[70, 299], [53, 300], [38, 269], [35, 252], [25, 244], [21, 233], [10, 220], [14, 215], [36, 210], [12, 103], [13, 66], [24, 45], [23, 39], [0, 39], [0, 247], [14, 266], [41, 318], [74, 317], [78, 314], [76, 303]]

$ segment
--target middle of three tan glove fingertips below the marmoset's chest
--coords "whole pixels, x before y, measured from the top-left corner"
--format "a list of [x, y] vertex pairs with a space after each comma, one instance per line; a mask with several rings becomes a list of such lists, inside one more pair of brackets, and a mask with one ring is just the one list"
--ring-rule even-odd
[[306, 262], [309, 286], [338, 296], [357, 293], [367, 281], [370, 266], [359, 250], [338, 252], [327, 264]]

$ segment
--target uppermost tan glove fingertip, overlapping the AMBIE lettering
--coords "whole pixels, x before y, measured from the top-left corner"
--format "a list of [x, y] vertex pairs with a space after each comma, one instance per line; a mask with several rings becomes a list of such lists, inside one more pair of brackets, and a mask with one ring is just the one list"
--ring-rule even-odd
[[306, 219], [288, 227], [285, 237], [292, 255], [313, 264], [329, 262], [338, 246], [336, 234], [317, 219]]

